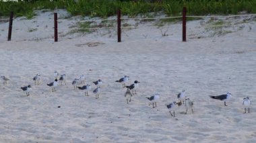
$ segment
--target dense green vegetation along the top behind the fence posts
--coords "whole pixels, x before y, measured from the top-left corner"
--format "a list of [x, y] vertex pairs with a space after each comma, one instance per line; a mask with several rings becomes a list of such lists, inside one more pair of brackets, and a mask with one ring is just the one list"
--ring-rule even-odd
[[34, 10], [38, 9], [67, 9], [71, 15], [87, 15], [108, 17], [116, 15], [121, 9], [123, 15], [134, 17], [146, 13], [162, 11], [166, 15], [181, 15], [183, 7], [187, 7], [189, 15], [206, 14], [237, 14], [240, 11], [256, 13], [255, 0], [26, 0], [3, 1], [0, 0], [0, 16], [15, 15], [26, 16], [31, 19]]

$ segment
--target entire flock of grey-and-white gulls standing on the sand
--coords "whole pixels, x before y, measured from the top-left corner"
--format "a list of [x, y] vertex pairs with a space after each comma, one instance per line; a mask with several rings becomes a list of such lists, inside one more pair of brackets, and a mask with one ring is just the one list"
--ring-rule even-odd
[[[66, 75], [60, 75], [57, 71], [55, 71], [53, 73], [53, 77], [55, 78], [55, 80], [52, 83], [47, 83], [46, 85], [48, 85], [49, 87], [51, 87], [52, 91], [55, 92], [56, 91], [56, 87], [59, 85], [59, 81], [61, 83], [61, 85], [64, 83], [66, 85]], [[3, 85], [7, 85], [7, 82], [10, 81], [9, 78], [2, 76], [1, 77], [2, 81], [3, 81]], [[40, 83], [40, 74], [37, 74], [35, 77], [33, 77], [33, 81], [35, 85], [39, 85]], [[124, 76], [121, 79], [115, 81], [118, 83], [122, 83], [122, 87], [123, 88], [127, 88], [127, 91], [125, 92], [125, 99], [127, 101], [127, 103], [131, 102], [131, 97], [133, 97], [133, 95], [137, 94], [136, 93], [136, 89], [139, 87], [139, 81], [134, 81], [133, 84], [131, 85], [125, 85], [127, 83], [127, 81], [129, 81], [129, 77], [128, 76]], [[72, 81], [72, 85], [74, 87], [74, 90], [76, 90], [77, 88], [79, 90], [84, 91], [86, 96], [89, 96], [88, 91], [91, 91], [92, 86], [87, 84], [87, 85], [83, 85], [83, 86], [78, 86], [80, 84], [85, 84], [86, 83], [86, 77], [84, 75], [81, 75], [79, 78], [77, 79], [73, 79]], [[94, 83], [94, 85], [96, 86], [96, 88], [92, 91], [92, 93], [95, 94], [96, 99], [99, 98], [100, 95], [100, 85], [102, 85], [102, 80], [98, 79], [97, 81], [93, 81], [92, 83]], [[27, 96], [30, 95], [30, 91], [32, 91], [32, 86], [28, 85], [25, 87], [20, 87], [22, 89], [22, 91], [24, 91], [26, 93]], [[152, 104], [153, 108], [156, 107], [156, 103], [158, 102], [158, 100], [160, 99], [160, 95], [158, 93], [152, 95], [151, 97], [146, 97], [149, 101], [150, 101], [150, 105]], [[212, 99], [217, 99], [220, 101], [224, 101], [224, 106], [226, 105], [226, 101], [230, 100], [232, 98], [232, 94], [231, 93], [226, 93], [223, 95], [217, 95], [217, 96], [210, 96], [210, 98]], [[191, 109], [191, 112], [193, 113], [193, 101], [191, 101], [191, 99], [189, 99], [189, 97], [186, 96], [186, 92], [185, 90], [181, 91], [181, 93], [177, 94], [177, 99], [178, 101], [173, 101], [172, 103], [166, 104], [167, 109], [169, 110], [169, 113], [171, 116], [175, 117], [175, 109], [181, 105], [185, 105], [186, 111], [185, 114], [187, 114], [188, 109]], [[250, 106], [251, 106], [251, 101], [249, 99], [249, 97], [245, 97], [243, 99], [243, 106], [245, 107], [245, 113], [250, 113]]]

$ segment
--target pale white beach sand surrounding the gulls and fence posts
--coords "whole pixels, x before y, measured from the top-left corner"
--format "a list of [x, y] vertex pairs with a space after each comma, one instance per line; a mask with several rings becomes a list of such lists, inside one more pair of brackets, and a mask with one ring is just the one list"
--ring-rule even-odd
[[[256, 142], [256, 21], [245, 19], [226, 19], [238, 26], [219, 35], [199, 27], [209, 19], [189, 21], [187, 42], [181, 42], [181, 23], [168, 28], [168, 36], [158, 28], [124, 30], [121, 43], [116, 30], [53, 42], [52, 11], [15, 19], [9, 42], [8, 23], [1, 23], [0, 75], [11, 81], [0, 85], [0, 142]], [[74, 23], [63, 19], [59, 32], [65, 35]], [[46, 83], [55, 70], [67, 75], [67, 86], [52, 93]], [[42, 81], [35, 86], [38, 73]], [[92, 89], [92, 81], [102, 79], [100, 99], [73, 90], [72, 80], [83, 74]], [[115, 82], [124, 75], [129, 84], [141, 82], [129, 104]], [[26, 97], [20, 87], [28, 84]], [[183, 89], [195, 101], [194, 113], [179, 107], [171, 117], [165, 104], [177, 101]], [[209, 97], [227, 91], [233, 95], [227, 107]], [[152, 109], [146, 97], [154, 93], [160, 101]], [[243, 113], [247, 96], [251, 113]]]

